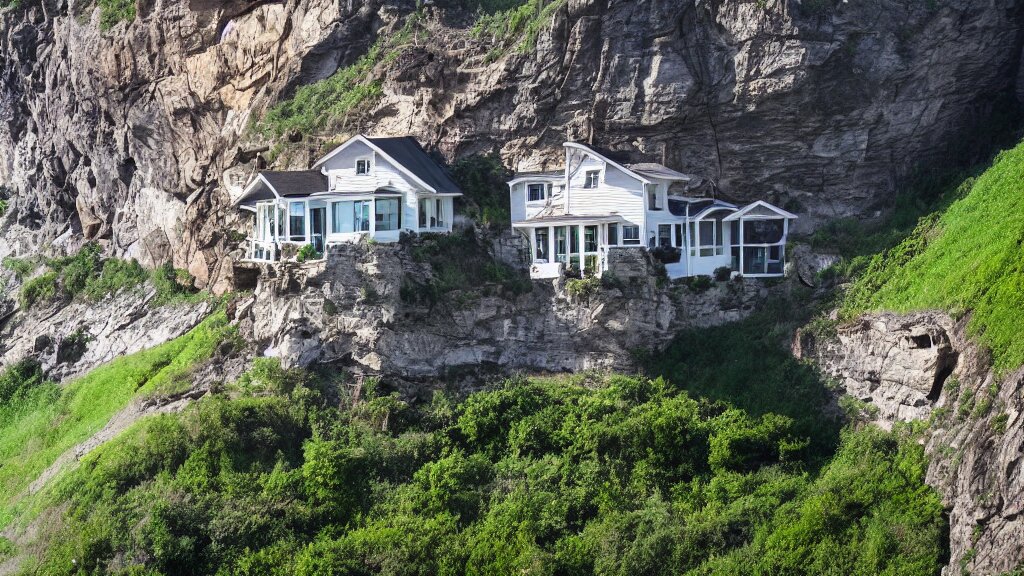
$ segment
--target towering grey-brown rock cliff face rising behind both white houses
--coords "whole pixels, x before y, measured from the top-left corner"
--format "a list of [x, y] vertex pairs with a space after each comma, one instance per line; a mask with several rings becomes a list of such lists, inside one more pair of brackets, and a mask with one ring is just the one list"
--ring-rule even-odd
[[[525, 50], [471, 34], [469, 4], [424, 8], [415, 38], [432, 40], [373, 68], [381, 94], [343, 130], [413, 133], [450, 157], [497, 148], [510, 164], [551, 160], [565, 138], [638, 149], [811, 227], [869, 215], [915, 168], [983, 149], [975, 129], [1020, 92], [1014, 0], [559, 1]], [[416, 9], [144, 0], [108, 30], [89, 0], [3, 9], [0, 256], [101, 239], [225, 289], [227, 191], [264, 143], [250, 121]]]

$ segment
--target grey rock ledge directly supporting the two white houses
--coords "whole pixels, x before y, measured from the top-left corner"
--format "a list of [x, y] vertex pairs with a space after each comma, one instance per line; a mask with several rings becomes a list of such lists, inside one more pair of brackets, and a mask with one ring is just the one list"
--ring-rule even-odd
[[433, 271], [402, 245], [332, 248], [327, 262], [265, 266], [251, 304], [237, 316], [247, 336], [286, 364], [342, 362], [403, 380], [486, 367], [530, 371], [632, 368], [632, 354], [666, 344], [685, 327], [745, 316], [765, 296], [758, 282], [718, 283], [695, 293], [658, 287], [651, 271], [592, 294], [564, 282], [519, 293], [500, 284], [421, 298]]

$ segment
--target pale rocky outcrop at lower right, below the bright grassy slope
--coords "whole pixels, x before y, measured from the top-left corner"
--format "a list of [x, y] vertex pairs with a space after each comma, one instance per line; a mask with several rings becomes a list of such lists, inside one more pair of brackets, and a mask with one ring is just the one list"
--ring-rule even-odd
[[802, 334], [848, 394], [878, 407], [878, 422], [926, 420], [927, 481], [949, 513], [948, 576], [1024, 567], [1024, 371], [1000, 375], [942, 313], [869, 315], [831, 337]]

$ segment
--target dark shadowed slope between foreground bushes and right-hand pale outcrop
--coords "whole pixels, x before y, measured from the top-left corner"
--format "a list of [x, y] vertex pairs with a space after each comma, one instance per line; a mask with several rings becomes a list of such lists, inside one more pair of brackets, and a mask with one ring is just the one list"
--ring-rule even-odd
[[786, 348], [810, 308], [801, 295], [775, 300], [745, 320], [680, 332], [664, 351], [641, 354], [638, 364], [694, 398], [792, 418], [816, 466], [835, 453], [845, 417], [817, 368]]

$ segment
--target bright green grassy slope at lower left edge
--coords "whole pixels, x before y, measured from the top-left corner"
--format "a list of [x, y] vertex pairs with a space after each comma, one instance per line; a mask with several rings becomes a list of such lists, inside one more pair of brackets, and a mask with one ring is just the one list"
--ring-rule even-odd
[[96, 434], [140, 394], [172, 388], [210, 358], [229, 328], [217, 313], [185, 335], [118, 358], [60, 388], [44, 383], [0, 408], [0, 525], [28, 503], [26, 490], [61, 454]]

